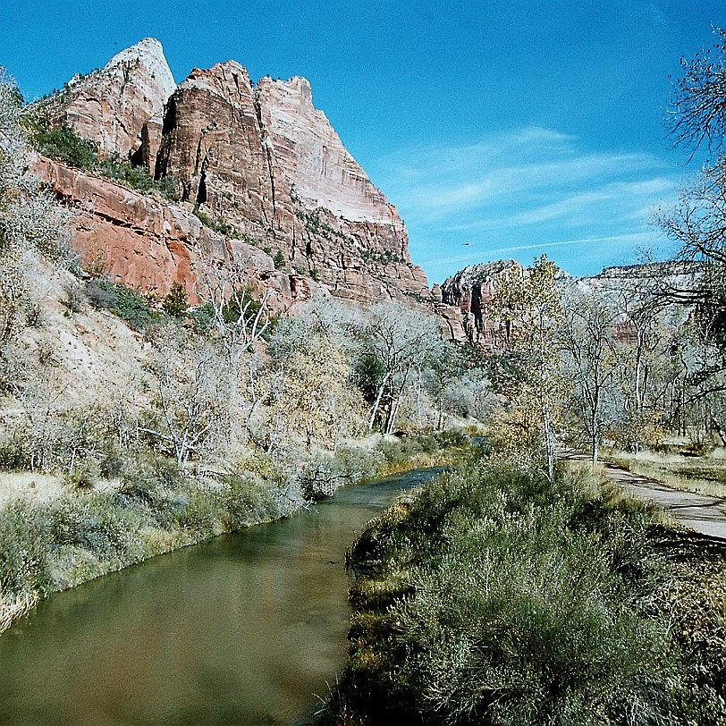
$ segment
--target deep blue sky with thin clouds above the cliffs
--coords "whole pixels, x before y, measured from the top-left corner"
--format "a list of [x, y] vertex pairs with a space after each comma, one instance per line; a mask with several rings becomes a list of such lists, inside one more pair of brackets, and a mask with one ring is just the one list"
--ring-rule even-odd
[[30, 99], [151, 36], [179, 82], [228, 58], [307, 77], [434, 283], [501, 257], [595, 274], [667, 251], [648, 215], [696, 172], [665, 138], [669, 75], [724, 25], [723, 0], [5, 0], [0, 64]]

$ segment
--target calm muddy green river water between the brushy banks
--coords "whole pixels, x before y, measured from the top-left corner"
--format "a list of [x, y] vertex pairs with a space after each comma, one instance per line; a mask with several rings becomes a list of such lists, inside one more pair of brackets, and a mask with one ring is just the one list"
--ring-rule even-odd
[[52, 596], [0, 637], [0, 723], [311, 722], [345, 657], [345, 550], [432, 476], [342, 489]]

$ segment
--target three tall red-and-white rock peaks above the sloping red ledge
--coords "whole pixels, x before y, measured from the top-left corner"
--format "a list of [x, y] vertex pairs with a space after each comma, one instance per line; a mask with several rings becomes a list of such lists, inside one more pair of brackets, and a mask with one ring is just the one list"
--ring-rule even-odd
[[[48, 108], [106, 153], [171, 178], [188, 212], [266, 250], [288, 274], [349, 300], [429, 299], [400, 216], [313, 106], [307, 80], [266, 78], [253, 89], [227, 61], [174, 89], [163, 58], [157, 41], [141, 41]], [[155, 76], [164, 82], [154, 90]]]

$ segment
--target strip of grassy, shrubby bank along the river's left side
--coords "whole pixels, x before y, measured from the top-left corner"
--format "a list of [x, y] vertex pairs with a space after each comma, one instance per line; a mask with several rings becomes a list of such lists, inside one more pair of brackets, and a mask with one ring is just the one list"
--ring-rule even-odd
[[[325, 482], [325, 494], [407, 469], [407, 462], [408, 469], [422, 460], [446, 465], [466, 448], [456, 435], [379, 437], [373, 446], [348, 447], [325, 460], [325, 475], [334, 475]], [[320, 470], [310, 477], [322, 476]], [[213, 536], [288, 517], [307, 504], [313, 485], [301, 485], [272, 460], [238, 475], [195, 477], [156, 457], [139, 462], [134, 476], [103, 489], [66, 485], [50, 497], [16, 496], [0, 508], [0, 633], [54, 592]]]

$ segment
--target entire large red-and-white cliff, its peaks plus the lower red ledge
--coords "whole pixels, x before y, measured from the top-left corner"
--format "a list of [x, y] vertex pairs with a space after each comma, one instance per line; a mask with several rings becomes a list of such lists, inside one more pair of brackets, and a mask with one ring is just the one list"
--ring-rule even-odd
[[[43, 162], [75, 210], [73, 243], [87, 260], [103, 250], [128, 283], [163, 292], [178, 279], [193, 292], [194, 259], [243, 246], [266, 260], [279, 253], [283, 276], [338, 297], [428, 299], [400, 216], [313, 106], [307, 80], [266, 78], [254, 89], [234, 61], [195, 69], [179, 87], [171, 78], [160, 44], [146, 39], [46, 102], [52, 121], [172, 177], [182, 197], [169, 206], [89, 174], [71, 182], [70, 170]], [[242, 241], [203, 227], [194, 209]]]

